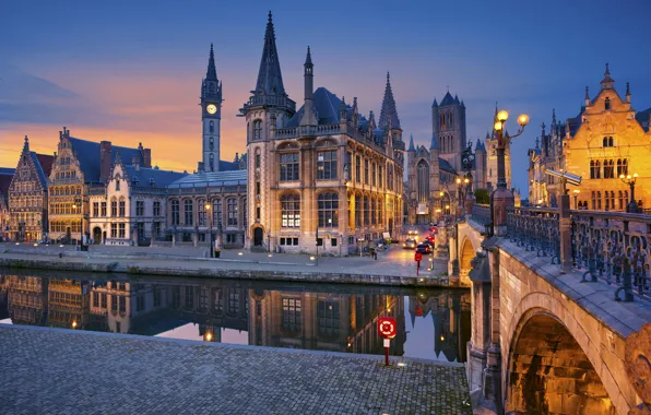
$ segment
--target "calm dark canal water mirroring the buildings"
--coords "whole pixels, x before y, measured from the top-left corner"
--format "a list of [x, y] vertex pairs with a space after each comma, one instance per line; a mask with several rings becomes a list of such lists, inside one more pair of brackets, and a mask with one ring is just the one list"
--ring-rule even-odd
[[470, 294], [246, 281], [0, 270], [0, 323], [272, 347], [465, 361]]

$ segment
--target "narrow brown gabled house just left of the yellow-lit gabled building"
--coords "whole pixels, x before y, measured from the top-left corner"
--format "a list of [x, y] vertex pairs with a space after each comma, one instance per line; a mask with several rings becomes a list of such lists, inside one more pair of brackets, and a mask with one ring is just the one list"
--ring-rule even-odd
[[29, 150], [25, 135], [23, 152], [9, 188], [9, 238], [38, 241], [47, 237], [47, 177], [55, 157]]

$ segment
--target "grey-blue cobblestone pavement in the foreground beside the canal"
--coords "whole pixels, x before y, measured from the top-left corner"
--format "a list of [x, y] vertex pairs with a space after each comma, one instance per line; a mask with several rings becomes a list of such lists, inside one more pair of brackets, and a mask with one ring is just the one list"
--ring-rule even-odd
[[472, 413], [461, 366], [2, 324], [0, 388], [3, 414]]

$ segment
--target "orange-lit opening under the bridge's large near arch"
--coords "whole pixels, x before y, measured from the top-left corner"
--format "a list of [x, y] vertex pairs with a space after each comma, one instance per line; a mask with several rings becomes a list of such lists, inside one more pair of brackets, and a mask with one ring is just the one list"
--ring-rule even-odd
[[514, 339], [507, 375], [507, 412], [616, 414], [588, 356], [554, 317], [533, 315]]

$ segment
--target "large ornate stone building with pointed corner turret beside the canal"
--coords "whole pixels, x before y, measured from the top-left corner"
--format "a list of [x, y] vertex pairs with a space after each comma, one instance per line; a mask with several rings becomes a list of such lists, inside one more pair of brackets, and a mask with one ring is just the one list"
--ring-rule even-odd
[[[379, 122], [324, 87], [313, 88], [308, 48], [304, 105], [283, 86], [269, 14], [260, 71], [240, 109], [247, 120], [251, 249], [347, 254], [402, 227], [404, 142], [391, 84]], [[382, 126], [382, 127], [380, 127]]]

